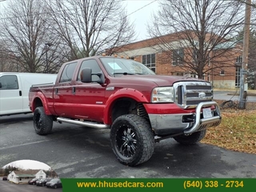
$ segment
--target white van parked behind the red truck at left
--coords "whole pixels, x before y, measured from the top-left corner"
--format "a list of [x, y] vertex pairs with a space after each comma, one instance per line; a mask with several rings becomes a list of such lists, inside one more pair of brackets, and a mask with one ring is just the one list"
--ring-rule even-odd
[[57, 74], [0, 73], [0, 116], [31, 113], [30, 86], [55, 83]]

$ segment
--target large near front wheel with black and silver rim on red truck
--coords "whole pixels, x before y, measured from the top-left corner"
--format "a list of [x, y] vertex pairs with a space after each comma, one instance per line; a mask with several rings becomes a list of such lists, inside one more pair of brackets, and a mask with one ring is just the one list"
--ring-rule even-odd
[[114, 120], [110, 142], [118, 161], [137, 166], [154, 153], [154, 134], [150, 123], [136, 114], [125, 114]]

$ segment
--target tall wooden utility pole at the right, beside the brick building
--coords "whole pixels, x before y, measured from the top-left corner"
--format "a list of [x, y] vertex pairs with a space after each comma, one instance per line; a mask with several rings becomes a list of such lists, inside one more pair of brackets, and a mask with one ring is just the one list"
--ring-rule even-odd
[[243, 34], [243, 47], [242, 47], [242, 68], [240, 70], [240, 96], [239, 105], [240, 109], [246, 109], [247, 98], [247, 67], [248, 67], [248, 52], [249, 52], [249, 38], [250, 38], [250, 4], [251, 0], [246, 0], [246, 15], [245, 26]]

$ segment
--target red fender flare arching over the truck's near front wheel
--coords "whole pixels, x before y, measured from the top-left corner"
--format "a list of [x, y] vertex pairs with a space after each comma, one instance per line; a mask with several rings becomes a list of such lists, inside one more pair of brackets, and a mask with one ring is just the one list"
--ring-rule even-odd
[[138, 90], [134, 90], [130, 88], [123, 88], [123, 89], [117, 90], [116, 92], [114, 92], [114, 94], [111, 94], [108, 100], [106, 101], [106, 107], [104, 109], [104, 117], [103, 117], [103, 121], [106, 125], [112, 124], [112, 121], [111, 121], [112, 107], [114, 105], [114, 102], [118, 100], [118, 98], [132, 98], [136, 102], [150, 102], [145, 97], [145, 95]]

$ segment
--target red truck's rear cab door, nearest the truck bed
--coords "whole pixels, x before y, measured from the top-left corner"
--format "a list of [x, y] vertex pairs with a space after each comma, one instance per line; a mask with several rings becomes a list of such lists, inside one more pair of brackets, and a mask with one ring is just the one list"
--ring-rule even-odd
[[54, 86], [54, 111], [58, 116], [70, 118], [73, 115], [72, 80], [76, 66], [77, 62], [67, 63]]

